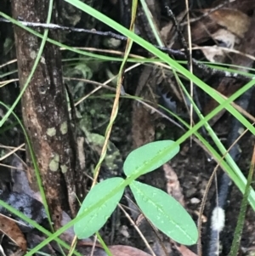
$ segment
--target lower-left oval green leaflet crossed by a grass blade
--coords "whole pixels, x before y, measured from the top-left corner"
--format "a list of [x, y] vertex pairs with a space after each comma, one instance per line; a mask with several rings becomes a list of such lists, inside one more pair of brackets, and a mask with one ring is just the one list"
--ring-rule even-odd
[[[122, 178], [112, 178], [106, 179], [95, 185], [82, 202], [82, 207], [80, 208], [77, 216], [84, 213], [96, 202], [99, 202], [99, 200], [105, 197], [105, 194], [110, 194], [111, 191], [122, 182]], [[124, 189], [122, 191], [118, 191], [114, 196], [111, 196], [105, 200], [105, 202], [101, 204], [99, 208], [96, 208], [91, 213], [88, 213], [83, 219], [74, 225], [74, 231], [79, 239], [92, 236], [103, 225], [105, 225], [105, 222], [116, 208], [117, 203], [121, 200], [123, 192]]]

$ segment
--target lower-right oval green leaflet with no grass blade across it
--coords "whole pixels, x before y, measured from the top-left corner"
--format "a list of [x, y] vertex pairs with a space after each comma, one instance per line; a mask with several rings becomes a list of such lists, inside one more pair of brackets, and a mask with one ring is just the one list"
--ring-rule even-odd
[[176, 242], [184, 245], [195, 244], [198, 239], [195, 223], [172, 196], [135, 180], [130, 188], [139, 208], [153, 225]]

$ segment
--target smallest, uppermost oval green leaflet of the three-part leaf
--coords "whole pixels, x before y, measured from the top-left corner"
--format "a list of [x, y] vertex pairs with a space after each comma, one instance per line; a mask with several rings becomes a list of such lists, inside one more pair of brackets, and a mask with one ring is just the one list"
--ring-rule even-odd
[[[132, 151], [128, 156], [126, 161], [124, 162], [123, 170], [124, 173], [129, 176], [133, 174], [136, 169], [140, 168], [144, 163], [148, 162], [151, 158], [155, 157], [161, 151], [164, 151], [167, 147], [170, 145], [173, 145], [173, 140], [160, 140], [151, 142], [149, 144], [143, 145], [139, 147], [138, 149]], [[173, 158], [179, 151], [179, 146], [173, 148], [172, 151], [169, 151], [167, 156], [162, 157], [158, 161], [154, 162], [154, 164], [151, 166], [151, 168], [147, 169], [144, 174], [148, 174], [151, 171], [155, 170], [156, 168], [159, 168], [162, 164], [169, 161]]]

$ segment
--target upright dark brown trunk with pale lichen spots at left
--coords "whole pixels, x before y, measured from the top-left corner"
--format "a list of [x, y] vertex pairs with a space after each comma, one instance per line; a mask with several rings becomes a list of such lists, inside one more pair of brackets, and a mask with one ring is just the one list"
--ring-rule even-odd
[[[19, 16], [22, 20], [45, 23], [48, 3], [48, 0], [14, 0], [14, 19]], [[51, 22], [57, 23], [56, 17], [54, 9]], [[42, 29], [37, 31], [43, 32]], [[18, 26], [14, 26], [14, 37], [20, 88], [23, 88], [42, 40]], [[48, 37], [58, 40], [58, 33], [49, 31]], [[56, 228], [60, 226], [62, 210], [71, 210], [74, 217], [78, 210], [76, 195], [79, 198], [84, 196], [84, 188], [76, 184], [76, 179], [83, 176], [76, 166], [76, 143], [65, 95], [59, 48], [46, 43], [21, 103], [26, 131], [37, 157], [48, 208]], [[32, 168], [29, 174], [31, 178], [35, 177]], [[35, 189], [35, 178], [32, 181]]]

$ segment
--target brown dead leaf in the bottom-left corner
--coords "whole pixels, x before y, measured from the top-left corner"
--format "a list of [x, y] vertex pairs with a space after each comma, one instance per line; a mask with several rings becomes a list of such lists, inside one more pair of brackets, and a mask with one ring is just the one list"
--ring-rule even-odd
[[14, 222], [13, 219], [2, 215], [0, 213], [0, 230], [5, 236], [13, 241], [18, 247], [20, 247], [24, 252], [26, 252], [26, 239], [23, 233], [21, 232], [18, 225]]

